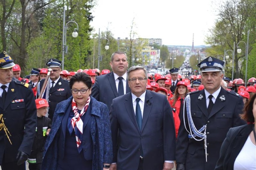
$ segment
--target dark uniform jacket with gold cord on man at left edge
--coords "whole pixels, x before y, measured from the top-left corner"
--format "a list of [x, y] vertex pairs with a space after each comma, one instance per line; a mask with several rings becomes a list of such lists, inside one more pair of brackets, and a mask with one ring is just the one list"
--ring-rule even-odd
[[35, 97], [31, 86], [13, 79], [10, 82], [4, 106], [0, 98], [0, 114], [3, 114], [5, 126], [11, 134], [8, 136], [12, 142], [11, 145], [2, 129], [0, 131], [0, 164], [3, 156], [5, 156], [5, 163], [15, 162], [18, 150], [30, 154], [35, 136], [37, 118]]

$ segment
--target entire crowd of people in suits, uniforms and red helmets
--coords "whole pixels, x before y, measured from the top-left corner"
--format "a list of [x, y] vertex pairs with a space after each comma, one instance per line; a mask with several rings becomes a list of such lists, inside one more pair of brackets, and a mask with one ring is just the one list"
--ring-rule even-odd
[[51, 58], [21, 78], [0, 54], [3, 170], [26, 160], [30, 170], [256, 169], [254, 77], [230, 80], [214, 57], [191, 76], [129, 68], [119, 51], [111, 71], [61, 64]]

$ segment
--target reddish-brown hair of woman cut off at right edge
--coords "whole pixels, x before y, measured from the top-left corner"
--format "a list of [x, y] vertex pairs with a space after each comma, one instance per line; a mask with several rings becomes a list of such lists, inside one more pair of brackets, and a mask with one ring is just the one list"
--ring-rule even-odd
[[[250, 122], [250, 123], [254, 123], [254, 116], [253, 116], [253, 103], [254, 100], [256, 98], [256, 94], [254, 94], [250, 100], [248, 102], [245, 103], [245, 107], [243, 109], [243, 114], [240, 115], [241, 119]], [[256, 107], [256, 106], [254, 106]]]

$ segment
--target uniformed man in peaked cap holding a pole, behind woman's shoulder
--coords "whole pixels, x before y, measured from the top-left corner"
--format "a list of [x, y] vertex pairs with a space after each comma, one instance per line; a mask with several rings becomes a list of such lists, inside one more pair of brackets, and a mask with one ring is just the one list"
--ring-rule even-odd
[[[59, 102], [68, 99], [72, 95], [69, 87], [69, 81], [64, 80], [60, 77], [61, 63], [62, 61], [51, 58], [46, 64], [48, 68], [52, 69], [52, 72], [50, 73], [50, 79], [48, 81], [44, 96], [42, 98], [46, 99], [49, 103], [48, 117], [50, 119], [53, 118], [56, 105]], [[38, 98], [40, 93], [42, 93], [41, 90], [44, 81], [45, 79], [42, 79], [38, 84], [36, 98]]]

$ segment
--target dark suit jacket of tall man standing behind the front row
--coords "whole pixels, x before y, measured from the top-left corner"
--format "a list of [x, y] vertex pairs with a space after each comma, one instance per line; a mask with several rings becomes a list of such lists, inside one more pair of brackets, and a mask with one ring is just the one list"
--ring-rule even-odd
[[[130, 91], [128, 81], [126, 80], [126, 94]], [[110, 109], [112, 100], [118, 97], [114, 73], [111, 72], [102, 76], [97, 76], [91, 95], [99, 102], [105, 103], [108, 106], [108, 109]]]

